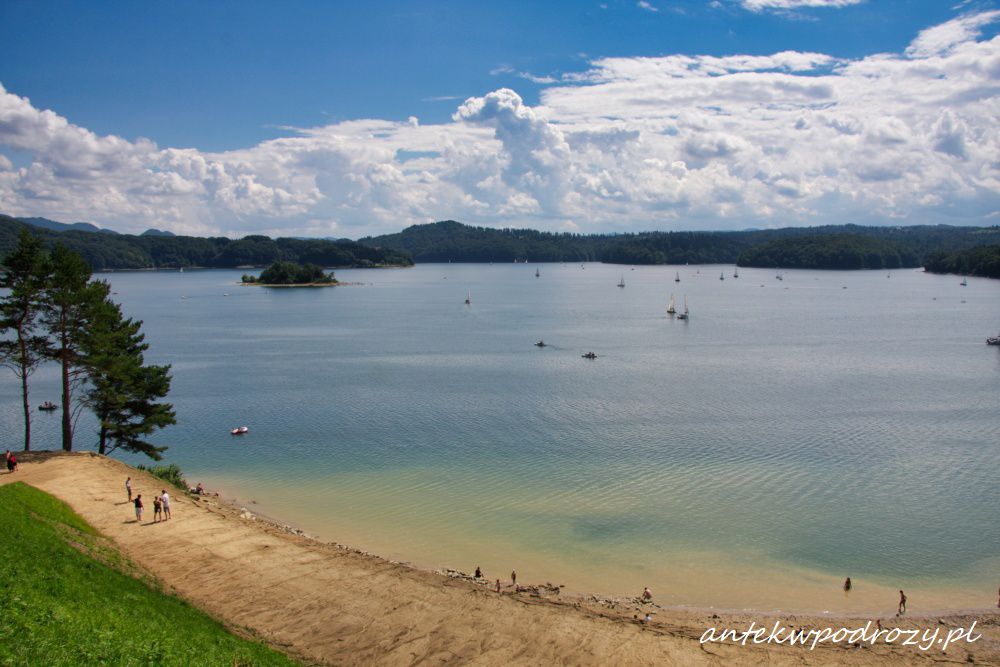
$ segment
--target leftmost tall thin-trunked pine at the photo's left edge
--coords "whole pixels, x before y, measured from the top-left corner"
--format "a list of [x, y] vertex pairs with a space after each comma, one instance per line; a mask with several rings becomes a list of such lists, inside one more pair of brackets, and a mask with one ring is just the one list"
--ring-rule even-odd
[[38, 316], [44, 308], [45, 288], [51, 266], [42, 242], [21, 229], [17, 247], [3, 260], [0, 289], [9, 290], [0, 299], [0, 331], [11, 331], [14, 340], [0, 341], [0, 359], [21, 381], [24, 409], [24, 451], [31, 449], [31, 406], [28, 378], [48, 352], [48, 340], [39, 335]]

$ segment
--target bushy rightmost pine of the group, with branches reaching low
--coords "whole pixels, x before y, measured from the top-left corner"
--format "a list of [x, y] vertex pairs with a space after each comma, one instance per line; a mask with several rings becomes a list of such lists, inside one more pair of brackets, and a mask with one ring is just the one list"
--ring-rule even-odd
[[125, 318], [106, 295], [89, 307], [89, 326], [80, 344], [88, 376], [83, 400], [98, 419], [98, 451], [121, 448], [158, 461], [166, 447], [143, 438], [176, 423], [173, 406], [156, 401], [170, 391], [170, 366], [145, 363], [149, 344], [140, 332], [142, 322]]

